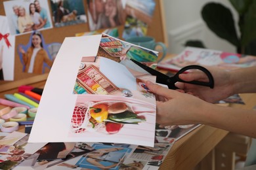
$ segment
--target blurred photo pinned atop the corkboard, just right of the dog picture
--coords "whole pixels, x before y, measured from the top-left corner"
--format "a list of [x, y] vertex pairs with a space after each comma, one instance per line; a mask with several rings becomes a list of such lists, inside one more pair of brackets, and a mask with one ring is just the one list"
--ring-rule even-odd
[[87, 14], [91, 31], [116, 27], [125, 22], [122, 0], [87, 0]]

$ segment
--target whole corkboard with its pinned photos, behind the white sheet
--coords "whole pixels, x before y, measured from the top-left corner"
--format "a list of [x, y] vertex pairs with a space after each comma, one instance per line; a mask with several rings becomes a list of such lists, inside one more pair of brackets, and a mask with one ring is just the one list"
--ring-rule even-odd
[[154, 0], [13, 0], [1, 3], [2, 82], [49, 73], [65, 37], [104, 32], [125, 40], [147, 35], [156, 7]]

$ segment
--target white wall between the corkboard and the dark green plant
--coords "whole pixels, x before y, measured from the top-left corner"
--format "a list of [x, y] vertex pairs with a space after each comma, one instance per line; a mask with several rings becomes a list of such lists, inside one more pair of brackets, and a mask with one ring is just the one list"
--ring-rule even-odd
[[[165, 13], [165, 26], [169, 42], [168, 52], [179, 54], [187, 40], [201, 40], [207, 48], [236, 52], [235, 46], [220, 39], [208, 29], [201, 17], [203, 5], [213, 0], [162, 0]], [[228, 0], [215, 0], [232, 10], [234, 20], [238, 20], [236, 11]]]

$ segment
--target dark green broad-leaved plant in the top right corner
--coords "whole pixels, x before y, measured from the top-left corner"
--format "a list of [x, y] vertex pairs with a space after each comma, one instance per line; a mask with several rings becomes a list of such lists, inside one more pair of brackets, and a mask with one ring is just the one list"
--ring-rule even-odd
[[256, 1], [229, 1], [238, 12], [238, 31], [232, 12], [221, 3], [207, 3], [202, 18], [213, 33], [236, 46], [237, 53], [256, 55]]

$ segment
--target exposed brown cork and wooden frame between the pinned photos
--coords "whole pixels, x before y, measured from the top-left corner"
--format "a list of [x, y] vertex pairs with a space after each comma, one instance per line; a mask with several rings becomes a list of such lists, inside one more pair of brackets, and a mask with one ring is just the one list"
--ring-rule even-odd
[[[5, 0], [6, 1], [6, 0]], [[51, 2], [48, 0], [49, 9], [51, 11]], [[85, 7], [85, 13], [87, 14], [87, 1], [83, 0], [83, 4]], [[152, 22], [148, 24], [148, 31], [147, 35], [152, 36], [156, 39], [156, 41], [164, 42], [166, 45], [167, 37], [165, 35], [165, 18], [163, 14], [163, 7], [162, 7], [162, 0], [156, 0], [156, 9], [154, 11], [154, 16], [152, 18]], [[5, 16], [5, 10], [3, 10], [3, 1], [0, 3], [0, 15]], [[51, 14], [53, 16], [53, 14]], [[53, 24], [54, 25], [54, 24]], [[65, 27], [54, 27], [52, 29], [45, 29], [42, 30], [41, 33], [45, 38], [45, 43], [49, 44], [52, 42], [59, 42], [62, 43], [65, 37], [74, 37], [75, 33], [83, 33], [89, 31], [89, 24], [88, 22], [85, 24], [77, 24], [77, 25], [69, 25]], [[119, 35], [121, 35], [123, 31], [123, 25], [118, 27]], [[22, 64], [20, 63], [19, 55], [18, 55], [18, 44], [27, 44], [30, 41], [31, 33], [18, 35], [15, 39], [15, 60], [14, 60], [14, 80], [21, 80], [24, 78], [37, 76], [36, 74], [32, 73], [23, 73], [22, 72]], [[45, 71], [46, 73], [49, 70]], [[0, 84], [3, 84], [7, 81], [1, 81]]]

